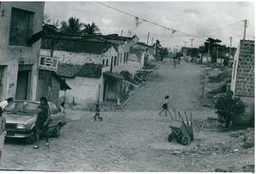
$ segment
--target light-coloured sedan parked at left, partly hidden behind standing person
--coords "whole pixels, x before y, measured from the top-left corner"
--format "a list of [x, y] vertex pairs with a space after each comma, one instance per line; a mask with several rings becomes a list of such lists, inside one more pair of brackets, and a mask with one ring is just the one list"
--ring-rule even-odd
[[[9, 103], [3, 115], [6, 117], [7, 137], [24, 138], [27, 143], [35, 141], [35, 122], [40, 102], [28, 100], [16, 100]], [[49, 130], [48, 133], [59, 137], [61, 129], [66, 124], [65, 113], [58, 110], [56, 105], [48, 102], [49, 107]]]

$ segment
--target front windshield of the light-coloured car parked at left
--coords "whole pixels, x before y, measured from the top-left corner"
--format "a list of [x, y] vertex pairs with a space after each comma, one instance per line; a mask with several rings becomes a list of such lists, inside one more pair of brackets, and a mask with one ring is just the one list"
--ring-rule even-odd
[[39, 104], [27, 101], [13, 101], [5, 108], [10, 113], [37, 113]]

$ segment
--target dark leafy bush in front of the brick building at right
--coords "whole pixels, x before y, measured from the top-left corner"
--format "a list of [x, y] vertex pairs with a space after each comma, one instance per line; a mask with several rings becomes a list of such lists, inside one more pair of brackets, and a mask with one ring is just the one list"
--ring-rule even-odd
[[230, 123], [234, 121], [236, 115], [245, 113], [246, 107], [240, 98], [233, 98], [231, 94], [220, 97], [214, 108], [217, 110], [219, 121], [226, 123], [226, 127], [229, 128]]

